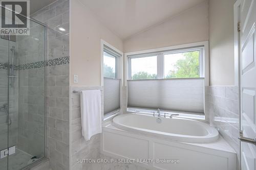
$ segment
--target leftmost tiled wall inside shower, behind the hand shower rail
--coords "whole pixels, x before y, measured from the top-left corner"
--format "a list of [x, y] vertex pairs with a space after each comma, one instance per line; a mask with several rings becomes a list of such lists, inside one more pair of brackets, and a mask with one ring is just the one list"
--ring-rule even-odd
[[[14, 78], [13, 87], [9, 86], [9, 117], [5, 105], [8, 104], [8, 60], [10, 46], [17, 48], [17, 43], [0, 39], [0, 150], [8, 148], [8, 145], [17, 144], [17, 119], [18, 119], [18, 83], [17, 78]], [[17, 56], [15, 56], [17, 59]], [[15, 60], [17, 61], [17, 60]], [[17, 64], [17, 63], [15, 63]], [[15, 76], [18, 72], [15, 70]], [[7, 105], [8, 106], [8, 105]], [[9, 141], [8, 141], [8, 124], [9, 126]]]

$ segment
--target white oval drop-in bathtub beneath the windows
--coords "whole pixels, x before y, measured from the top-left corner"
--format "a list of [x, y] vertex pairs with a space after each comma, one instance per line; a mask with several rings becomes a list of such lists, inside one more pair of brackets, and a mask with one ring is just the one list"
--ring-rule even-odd
[[122, 114], [114, 117], [113, 125], [125, 131], [153, 135], [183, 142], [205, 143], [218, 139], [219, 133], [214, 127], [184, 118], [158, 117], [142, 114]]

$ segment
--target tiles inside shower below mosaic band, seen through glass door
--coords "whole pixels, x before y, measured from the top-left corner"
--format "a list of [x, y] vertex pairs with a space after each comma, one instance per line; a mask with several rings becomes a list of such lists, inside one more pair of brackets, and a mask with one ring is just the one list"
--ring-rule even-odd
[[19, 70], [18, 149], [40, 158], [45, 153], [45, 69]]

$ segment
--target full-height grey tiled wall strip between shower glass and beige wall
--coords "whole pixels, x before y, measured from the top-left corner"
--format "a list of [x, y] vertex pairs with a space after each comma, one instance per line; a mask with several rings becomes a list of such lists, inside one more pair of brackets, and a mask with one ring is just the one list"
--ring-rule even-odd
[[[69, 169], [69, 1], [58, 0], [32, 14], [48, 26], [47, 157], [54, 170]], [[59, 28], [65, 29], [60, 31]]]

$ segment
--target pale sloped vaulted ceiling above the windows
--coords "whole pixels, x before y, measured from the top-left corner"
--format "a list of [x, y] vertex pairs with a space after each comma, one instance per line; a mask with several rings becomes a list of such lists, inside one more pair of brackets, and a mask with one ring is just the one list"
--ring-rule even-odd
[[153, 27], [204, 0], [79, 0], [121, 39]]

